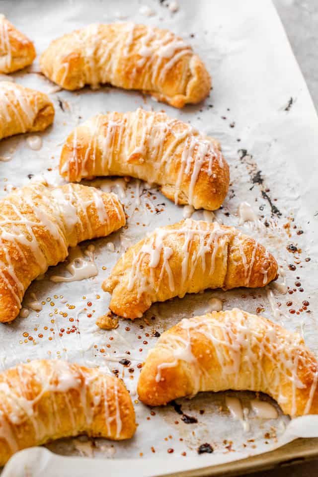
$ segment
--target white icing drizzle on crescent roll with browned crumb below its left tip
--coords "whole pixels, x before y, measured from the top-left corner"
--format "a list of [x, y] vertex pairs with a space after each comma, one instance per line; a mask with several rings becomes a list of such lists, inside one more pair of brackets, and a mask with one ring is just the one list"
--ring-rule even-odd
[[[138, 253], [133, 252], [127, 289], [130, 291], [136, 288], [138, 298], [140, 298], [143, 293], [156, 296], [156, 291], [162, 280], [164, 280], [164, 286], [168, 288], [170, 292], [169, 298], [173, 296], [182, 298], [185, 293], [188, 292], [187, 284], [191, 283], [191, 279], [197, 267], [202, 267], [202, 272], [205, 273], [208, 260], [210, 260], [209, 274], [212, 276], [215, 271], [216, 260], [220, 259], [218, 257], [221, 254], [226, 269], [228, 259], [228, 247], [226, 244], [228, 239], [236, 232], [233, 229], [222, 228], [218, 223], [214, 223], [212, 230], [206, 227], [206, 225], [205, 222], [186, 219], [180, 223], [178, 229], [168, 229], [164, 227], [156, 229], [144, 240]], [[182, 243], [183, 255], [181, 274], [177, 277], [177, 283], [174, 281], [169, 264], [169, 260], [173, 255], [173, 239], [175, 236], [178, 236], [178, 241]], [[193, 243], [195, 243], [194, 247], [192, 245]], [[257, 242], [255, 242], [248, 263], [243, 253], [242, 245], [240, 244], [240, 246], [245, 269], [245, 285], [248, 286], [255, 260]], [[190, 252], [193, 248], [195, 250]], [[150, 275], [148, 270], [147, 274], [143, 272], [146, 259], [149, 260]], [[123, 260], [125, 260], [125, 257]], [[159, 271], [155, 271], [155, 269], [159, 267], [159, 264]]]

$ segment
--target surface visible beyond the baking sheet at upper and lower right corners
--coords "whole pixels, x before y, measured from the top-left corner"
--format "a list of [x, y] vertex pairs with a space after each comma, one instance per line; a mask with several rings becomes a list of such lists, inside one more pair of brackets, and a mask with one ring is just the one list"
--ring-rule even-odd
[[[318, 110], [318, 0], [273, 0]], [[250, 474], [251, 477], [316, 477], [318, 460]]]

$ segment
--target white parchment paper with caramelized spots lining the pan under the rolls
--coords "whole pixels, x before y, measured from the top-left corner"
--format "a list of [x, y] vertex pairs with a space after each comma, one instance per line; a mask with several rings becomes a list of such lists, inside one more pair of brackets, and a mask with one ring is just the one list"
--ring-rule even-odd
[[[50, 93], [56, 107], [56, 119], [54, 125], [41, 134], [43, 147], [40, 151], [28, 148], [28, 135], [1, 141], [0, 156], [11, 156], [11, 160], [0, 162], [0, 196], [12, 187], [35, 180], [37, 174], [49, 183], [62, 183], [57, 172], [62, 144], [72, 129], [90, 116], [137, 107], [164, 109], [170, 116], [191, 121], [200, 131], [220, 140], [231, 168], [231, 186], [223, 209], [215, 214], [216, 219], [239, 227], [266, 245], [286, 272], [287, 285], [291, 291], [296, 290], [292, 295], [272, 291], [271, 305], [268, 301], [270, 291], [266, 289], [207, 291], [155, 304], [143, 320], [134, 323], [120, 320], [116, 330], [100, 330], [94, 324], [95, 318], [107, 311], [110, 299], [101, 291], [102, 280], [129, 245], [157, 226], [180, 220], [184, 208], [174, 206], [156, 189], [149, 189], [140, 181], [130, 181], [126, 190], [122, 180], [91, 182], [104, 190], [113, 187], [119, 192], [129, 215], [128, 228], [109, 238], [93, 241], [99, 270], [97, 277], [54, 284], [49, 280], [51, 275], [67, 275], [65, 264], [61, 264], [50, 269], [45, 279], [31, 285], [24, 304], [33, 300], [31, 294], [35, 293], [37, 300], [44, 303], [43, 309], [39, 313], [30, 311], [28, 318], [17, 318], [10, 325], [1, 326], [0, 365], [1, 369], [6, 369], [26, 359], [60, 356], [88, 366], [102, 366], [106, 372], [117, 374], [118, 371], [135, 401], [139, 424], [135, 437], [122, 443], [78, 438], [48, 446], [62, 455], [108, 458], [107, 469], [114, 475], [127, 469], [127, 459], [131, 472], [160, 475], [229, 462], [266, 452], [297, 436], [318, 435], [318, 423], [313, 418], [309, 421], [310, 428], [307, 420], [294, 420], [294, 430], [286, 432], [289, 421], [286, 416], [265, 421], [256, 419], [251, 411], [248, 415], [250, 429], [244, 431], [241, 422], [230, 416], [224, 404], [224, 393], [206, 393], [190, 401], [178, 400], [184, 413], [197, 417], [196, 424], [184, 423], [172, 406], [151, 412], [138, 402], [138, 364], [154, 346], [156, 331], [161, 333], [181, 318], [204, 313], [212, 297], [222, 299], [224, 309], [236, 306], [252, 313], [264, 310], [261, 312], [264, 316], [302, 333], [307, 344], [318, 352], [315, 317], [318, 119], [280, 20], [269, 0], [180, 1], [177, 12], [171, 12], [166, 6], [168, 3], [155, 0], [96, 0], [89, 4], [81, 0], [0, 2], [3, 13], [35, 40], [38, 54], [51, 39], [90, 22], [131, 20], [169, 28], [191, 42], [212, 73], [214, 85], [204, 104], [178, 111], [138, 92], [111, 87], [97, 91], [85, 88], [74, 93], [52, 92], [52, 83], [38, 74], [35, 62], [28, 70], [10, 77]], [[142, 14], [140, 8], [144, 5], [155, 14]], [[239, 225], [238, 209], [243, 201], [247, 201], [257, 215], [255, 223]], [[195, 212], [192, 218], [203, 219], [203, 212]], [[108, 242], [114, 243], [115, 252], [107, 250]], [[286, 247], [290, 244], [301, 251], [288, 251]], [[82, 244], [82, 249], [87, 245], [88, 242]], [[296, 270], [290, 270], [289, 264], [295, 265]], [[295, 282], [301, 285], [296, 286]], [[305, 300], [310, 303], [307, 310], [302, 305]], [[292, 306], [286, 305], [288, 301], [292, 301]], [[280, 307], [278, 303], [281, 303]], [[281, 313], [277, 312], [277, 307]], [[289, 313], [290, 309], [295, 313]], [[303, 311], [299, 312], [300, 309]], [[276, 317], [273, 316], [275, 311]], [[119, 363], [123, 358], [130, 361], [128, 367]], [[239, 396], [249, 409], [253, 393], [231, 394]], [[204, 410], [204, 414], [200, 410]], [[214, 452], [198, 455], [197, 448], [205, 442], [211, 444]], [[168, 453], [168, 449], [173, 449], [173, 453]], [[23, 451], [16, 456], [15, 466], [16, 459], [20, 458], [31, 464], [34, 452], [37, 453], [34, 460], [37, 474], [34, 475], [44, 475], [44, 472], [48, 475], [45, 466], [56, 470], [55, 460], [53, 463], [51, 454], [44, 449]], [[43, 467], [38, 464], [38, 453], [44, 456]], [[62, 467], [66, 466], [62, 462]], [[104, 465], [98, 460], [94, 464], [85, 460], [80, 460], [79, 465], [77, 462], [72, 460], [73, 475], [75, 472], [81, 475], [80, 472], [88, 468], [97, 471]]]

